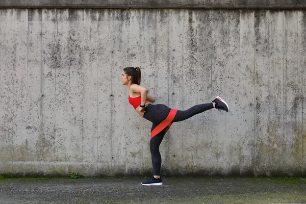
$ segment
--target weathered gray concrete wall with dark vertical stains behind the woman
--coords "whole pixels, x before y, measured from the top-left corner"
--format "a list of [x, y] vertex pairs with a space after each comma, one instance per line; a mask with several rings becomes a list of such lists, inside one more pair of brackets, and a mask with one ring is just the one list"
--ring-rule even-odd
[[305, 175], [305, 39], [305, 10], [0, 9], [0, 174], [149, 173], [140, 66], [156, 104], [231, 109], [174, 123], [164, 174]]

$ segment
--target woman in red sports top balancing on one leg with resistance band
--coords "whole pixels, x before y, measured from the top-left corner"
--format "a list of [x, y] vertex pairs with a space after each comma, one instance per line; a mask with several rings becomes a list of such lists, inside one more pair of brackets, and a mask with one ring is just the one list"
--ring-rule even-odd
[[153, 123], [150, 139], [153, 176], [141, 184], [145, 186], [159, 186], [163, 185], [160, 173], [162, 158], [159, 146], [172, 122], [186, 120], [212, 108], [228, 112], [228, 106], [220, 97], [215, 98], [212, 103], [196, 105], [186, 111], [170, 109], [162, 104], [152, 105], [151, 103], [154, 103], [155, 99], [147, 94], [148, 89], [140, 86], [140, 79], [141, 72], [139, 67], [125, 67], [123, 69], [121, 82], [122, 85], [130, 89], [129, 103], [141, 117]]

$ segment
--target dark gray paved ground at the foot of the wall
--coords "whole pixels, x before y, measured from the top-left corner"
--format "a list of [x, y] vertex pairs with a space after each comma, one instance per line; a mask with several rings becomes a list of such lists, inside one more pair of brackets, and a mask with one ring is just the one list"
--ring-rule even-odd
[[0, 203], [306, 203], [306, 178], [2, 179]]

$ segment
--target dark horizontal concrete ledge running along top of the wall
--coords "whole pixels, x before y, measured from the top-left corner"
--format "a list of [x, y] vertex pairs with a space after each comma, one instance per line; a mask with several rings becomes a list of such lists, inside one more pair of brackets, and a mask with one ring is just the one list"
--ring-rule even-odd
[[303, 0], [2, 0], [0, 8], [305, 9]]

